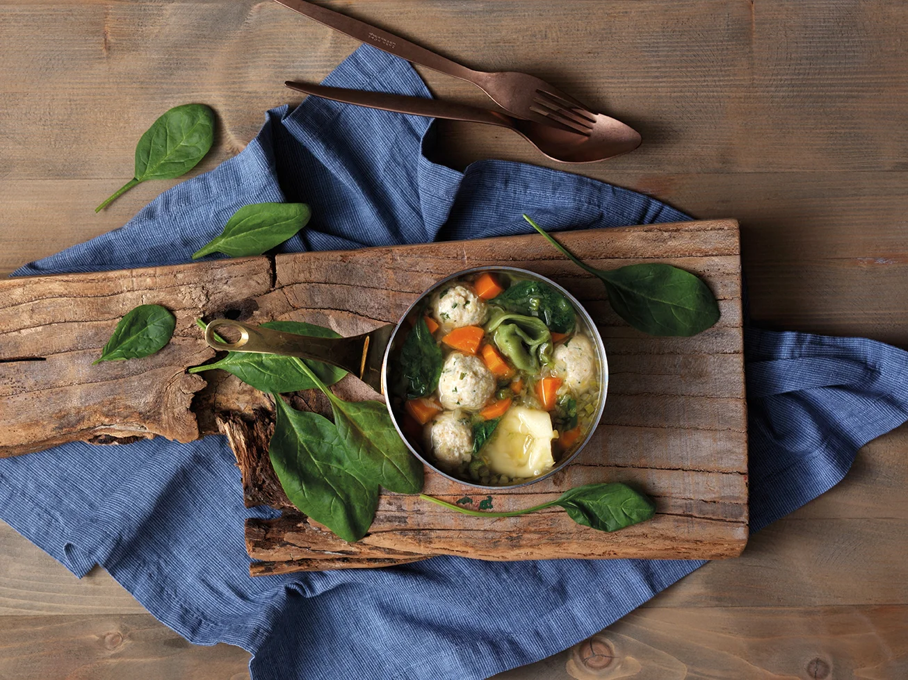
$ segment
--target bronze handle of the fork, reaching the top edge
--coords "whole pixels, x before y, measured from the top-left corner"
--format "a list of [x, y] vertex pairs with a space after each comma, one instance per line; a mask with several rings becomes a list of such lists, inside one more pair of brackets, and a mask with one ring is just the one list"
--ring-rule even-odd
[[308, 16], [310, 19], [314, 19], [320, 24], [325, 24], [326, 26], [333, 28], [335, 31], [350, 35], [351, 38], [356, 38], [360, 43], [378, 47], [380, 50], [399, 56], [402, 59], [406, 59], [408, 62], [419, 63], [423, 66], [427, 66], [433, 71], [447, 73], [448, 75], [453, 75], [455, 78], [461, 78], [470, 83], [475, 83], [479, 78], [480, 74], [478, 72], [473, 71], [466, 66], [461, 66], [457, 62], [452, 62], [450, 59], [447, 59], [440, 54], [429, 52], [425, 47], [419, 47], [418, 44], [410, 43], [409, 40], [404, 40], [398, 35], [388, 33], [375, 26], [370, 26], [365, 22], [361, 22], [359, 19], [341, 15], [339, 12], [334, 12], [333, 10], [321, 7], [320, 5], [313, 5], [312, 3], [305, 2], [305, 0], [276, 1], [285, 7], [290, 7], [292, 10], [299, 12], [301, 15]]

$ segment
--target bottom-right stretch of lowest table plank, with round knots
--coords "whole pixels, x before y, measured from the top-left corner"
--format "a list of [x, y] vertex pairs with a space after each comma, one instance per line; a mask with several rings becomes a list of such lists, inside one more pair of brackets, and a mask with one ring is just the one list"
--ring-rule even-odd
[[499, 680], [898, 678], [908, 607], [700, 607], [631, 612], [543, 664]]

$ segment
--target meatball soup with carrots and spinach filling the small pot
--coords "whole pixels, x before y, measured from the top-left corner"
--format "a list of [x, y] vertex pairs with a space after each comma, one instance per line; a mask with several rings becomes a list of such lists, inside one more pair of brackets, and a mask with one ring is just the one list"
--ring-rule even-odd
[[395, 350], [394, 405], [440, 469], [510, 485], [550, 471], [586, 438], [601, 368], [555, 287], [481, 272], [440, 287], [411, 321]]

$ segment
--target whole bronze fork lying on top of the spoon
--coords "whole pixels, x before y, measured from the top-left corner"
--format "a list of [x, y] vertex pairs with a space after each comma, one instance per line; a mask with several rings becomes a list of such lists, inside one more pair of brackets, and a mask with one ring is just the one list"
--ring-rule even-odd
[[370, 44], [408, 62], [419, 63], [433, 71], [447, 73], [478, 85], [502, 109], [518, 118], [567, 128], [585, 136], [589, 136], [597, 122], [597, 114], [591, 112], [587, 106], [535, 75], [516, 71], [497, 73], [473, 71], [424, 47], [419, 47], [418, 44], [410, 43], [397, 35], [320, 5], [313, 5], [305, 0], [276, 0], [276, 2], [342, 34], [350, 35], [361, 43]]

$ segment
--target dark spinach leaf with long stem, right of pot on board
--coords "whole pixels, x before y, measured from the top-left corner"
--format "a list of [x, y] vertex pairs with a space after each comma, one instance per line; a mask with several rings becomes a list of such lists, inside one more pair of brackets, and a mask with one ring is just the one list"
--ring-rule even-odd
[[536, 222], [523, 217], [577, 267], [599, 277], [617, 315], [638, 331], [649, 335], [696, 335], [719, 320], [716, 296], [690, 272], [658, 263], [610, 270], [589, 267]]

